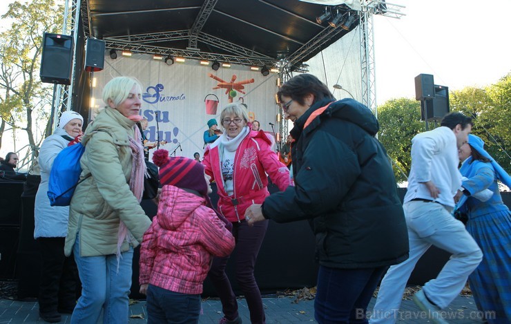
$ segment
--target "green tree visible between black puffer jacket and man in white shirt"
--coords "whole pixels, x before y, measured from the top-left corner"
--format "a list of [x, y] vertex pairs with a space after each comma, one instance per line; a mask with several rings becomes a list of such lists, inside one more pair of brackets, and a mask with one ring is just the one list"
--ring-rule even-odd
[[425, 131], [425, 123], [421, 122], [421, 103], [407, 98], [390, 99], [378, 106], [378, 122], [378, 140], [392, 159], [396, 180], [406, 181], [412, 163], [412, 138]]

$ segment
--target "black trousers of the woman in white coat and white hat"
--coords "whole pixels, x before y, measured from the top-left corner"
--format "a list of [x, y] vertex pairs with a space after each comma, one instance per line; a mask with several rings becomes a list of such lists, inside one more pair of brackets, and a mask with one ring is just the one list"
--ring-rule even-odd
[[78, 270], [64, 256], [65, 238], [37, 238], [43, 260], [39, 280], [39, 312], [72, 311], [76, 305]]

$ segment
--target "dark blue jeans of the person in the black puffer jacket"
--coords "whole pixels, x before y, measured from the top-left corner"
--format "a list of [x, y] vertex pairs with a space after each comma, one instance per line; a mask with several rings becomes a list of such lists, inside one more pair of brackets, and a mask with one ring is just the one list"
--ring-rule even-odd
[[325, 323], [367, 323], [367, 305], [385, 267], [334, 269], [320, 265], [314, 318]]

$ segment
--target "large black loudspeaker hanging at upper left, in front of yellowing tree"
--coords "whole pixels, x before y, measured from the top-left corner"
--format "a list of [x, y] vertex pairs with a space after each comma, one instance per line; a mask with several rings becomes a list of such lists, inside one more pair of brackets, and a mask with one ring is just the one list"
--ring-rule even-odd
[[72, 66], [73, 37], [45, 32], [39, 72], [41, 82], [70, 85]]

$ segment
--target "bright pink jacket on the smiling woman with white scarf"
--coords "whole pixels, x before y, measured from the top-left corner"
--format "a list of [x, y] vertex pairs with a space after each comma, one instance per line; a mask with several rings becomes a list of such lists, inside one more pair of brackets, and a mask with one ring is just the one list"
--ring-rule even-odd
[[[215, 142], [216, 144], [216, 142]], [[271, 141], [264, 132], [251, 131], [240, 143], [234, 158], [234, 193], [227, 196], [224, 189], [218, 145], [206, 147], [204, 165], [206, 173], [216, 180], [218, 188], [218, 211], [231, 222], [245, 218], [245, 210], [251, 204], [262, 204], [269, 196], [268, 177], [284, 191], [291, 184], [289, 170], [271, 151]]]

